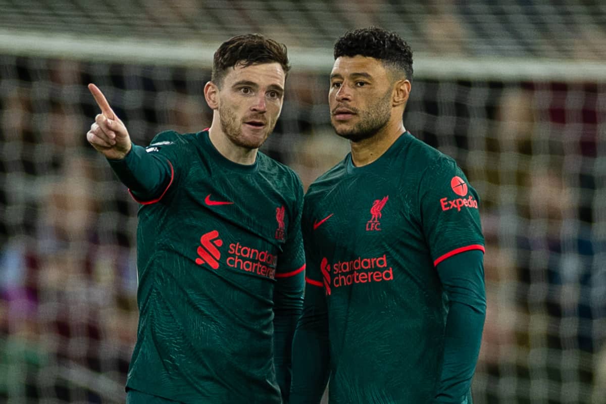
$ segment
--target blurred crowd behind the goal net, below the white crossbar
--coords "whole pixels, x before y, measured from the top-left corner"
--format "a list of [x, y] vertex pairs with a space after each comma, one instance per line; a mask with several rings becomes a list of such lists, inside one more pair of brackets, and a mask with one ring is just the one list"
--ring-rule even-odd
[[[115, 403], [135, 342], [137, 205], [85, 141], [95, 82], [136, 144], [206, 128], [210, 71], [0, 56], [0, 402]], [[262, 150], [307, 187], [348, 151], [293, 73]], [[481, 196], [474, 402], [606, 403], [606, 87], [413, 82], [408, 130]]]

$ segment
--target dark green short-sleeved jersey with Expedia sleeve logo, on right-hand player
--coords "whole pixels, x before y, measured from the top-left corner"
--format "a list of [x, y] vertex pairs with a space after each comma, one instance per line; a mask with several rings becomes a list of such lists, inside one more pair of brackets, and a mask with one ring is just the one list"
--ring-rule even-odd
[[306, 280], [325, 289], [331, 404], [433, 403], [447, 316], [436, 265], [484, 250], [478, 204], [453, 159], [410, 133], [310, 186]]

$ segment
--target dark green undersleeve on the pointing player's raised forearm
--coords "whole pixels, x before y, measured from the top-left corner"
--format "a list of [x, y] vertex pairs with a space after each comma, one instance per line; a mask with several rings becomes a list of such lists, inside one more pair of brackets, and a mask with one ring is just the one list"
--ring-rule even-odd
[[173, 175], [167, 160], [147, 153], [141, 146], [133, 145], [124, 159], [108, 162], [122, 184], [144, 200], [162, 194]]

